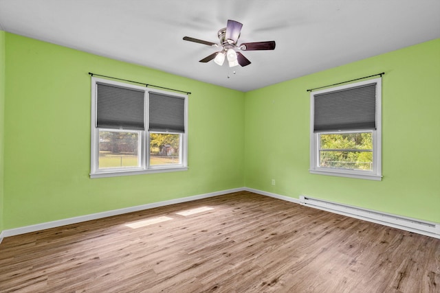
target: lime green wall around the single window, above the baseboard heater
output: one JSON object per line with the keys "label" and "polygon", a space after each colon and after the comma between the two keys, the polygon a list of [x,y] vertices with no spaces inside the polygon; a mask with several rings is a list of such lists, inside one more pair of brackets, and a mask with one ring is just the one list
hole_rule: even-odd
{"label": "lime green wall around the single window, above the baseboard heater", "polygon": [[[309,174],[307,89],[380,72],[382,181]],[[440,222],[439,93],[440,39],[245,93],[245,186]]]}

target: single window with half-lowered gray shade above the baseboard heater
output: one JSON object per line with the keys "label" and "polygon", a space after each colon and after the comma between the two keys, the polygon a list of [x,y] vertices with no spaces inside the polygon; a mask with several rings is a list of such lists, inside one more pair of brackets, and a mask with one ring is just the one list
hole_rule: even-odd
{"label": "single window with half-lowered gray shade above the baseboard heater", "polygon": [[311,92],[311,173],[382,180],[381,99],[381,78]]}

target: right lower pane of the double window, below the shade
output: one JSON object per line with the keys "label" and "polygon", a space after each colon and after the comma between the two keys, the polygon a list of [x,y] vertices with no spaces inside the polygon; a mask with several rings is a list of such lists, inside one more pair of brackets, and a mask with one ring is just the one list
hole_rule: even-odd
{"label": "right lower pane of the double window, below the shade", "polygon": [[180,136],[178,133],[151,133],[150,165],[180,164]]}

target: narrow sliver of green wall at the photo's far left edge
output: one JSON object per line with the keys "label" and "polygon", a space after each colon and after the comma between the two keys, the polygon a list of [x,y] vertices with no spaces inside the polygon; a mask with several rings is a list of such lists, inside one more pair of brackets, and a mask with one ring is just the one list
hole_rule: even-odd
{"label": "narrow sliver of green wall at the photo's far left edge", "polygon": [[0,30],[0,232],[3,231],[3,133],[5,121],[5,32]]}

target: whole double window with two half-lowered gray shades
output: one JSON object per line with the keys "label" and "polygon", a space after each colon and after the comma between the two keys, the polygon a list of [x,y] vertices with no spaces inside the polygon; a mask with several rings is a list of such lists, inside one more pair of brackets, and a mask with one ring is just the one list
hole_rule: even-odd
{"label": "whole double window with two half-lowered gray shades", "polygon": [[188,169],[188,96],[91,79],[91,178]]}

